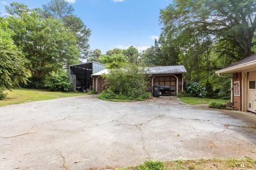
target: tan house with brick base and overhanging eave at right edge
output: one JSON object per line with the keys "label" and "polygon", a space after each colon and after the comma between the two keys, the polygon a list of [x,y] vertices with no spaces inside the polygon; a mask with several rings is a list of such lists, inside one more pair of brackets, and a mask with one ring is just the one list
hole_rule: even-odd
{"label": "tan house with brick base and overhanging eave at right edge", "polygon": [[256,113],[256,55],[216,71],[220,77],[231,74],[231,103],[239,111]]}

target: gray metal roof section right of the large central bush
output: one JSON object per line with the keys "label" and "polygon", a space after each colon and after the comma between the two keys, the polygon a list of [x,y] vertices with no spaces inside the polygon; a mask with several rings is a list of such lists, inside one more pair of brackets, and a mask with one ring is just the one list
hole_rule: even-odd
{"label": "gray metal roof section right of the large central bush", "polygon": [[146,70],[149,74],[187,73],[183,65],[147,67]]}

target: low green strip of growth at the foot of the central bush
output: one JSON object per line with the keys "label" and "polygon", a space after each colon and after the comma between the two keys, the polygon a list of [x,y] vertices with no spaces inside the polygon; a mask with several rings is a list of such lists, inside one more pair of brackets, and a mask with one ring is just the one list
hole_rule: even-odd
{"label": "low green strip of growth at the foot of the central bush", "polygon": [[101,100],[114,101],[114,102],[134,102],[134,101],[144,101],[146,99],[149,99],[152,97],[152,93],[146,92],[145,94],[138,96],[135,99],[129,99],[129,97],[127,97],[125,95],[113,95],[113,96],[111,96],[111,98],[106,98],[106,97],[108,97],[108,96],[106,96],[106,94],[104,92],[102,92],[98,98]]}

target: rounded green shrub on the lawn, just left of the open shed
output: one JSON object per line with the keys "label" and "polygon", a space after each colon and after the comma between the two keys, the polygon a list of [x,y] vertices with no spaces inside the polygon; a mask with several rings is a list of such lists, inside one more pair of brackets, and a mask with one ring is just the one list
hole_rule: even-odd
{"label": "rounded green shrub on the lawn, just left of the open shed", "polygon": [[53,91],[68,91],[71,88],[68,74],[64,70],[51,72],[45,79],[45,87]]}

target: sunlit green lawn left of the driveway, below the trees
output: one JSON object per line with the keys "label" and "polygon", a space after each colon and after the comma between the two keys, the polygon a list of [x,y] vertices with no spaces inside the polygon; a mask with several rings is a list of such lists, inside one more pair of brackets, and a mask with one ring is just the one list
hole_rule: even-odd
{"label": "sunlit green lawn left of the driveway, below the trees", "polygon": [[13,89],[7,91],[7,98],[0,100],[0,106],[26,103],[30,101],[49,100],[63,97],[83,96],[87,95],[82,92],[57,92],[49,90],[37,90],[37,89]]}

